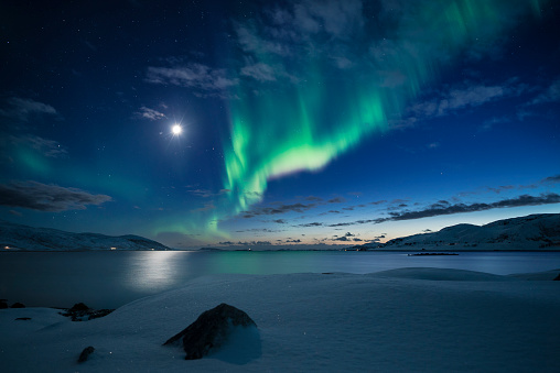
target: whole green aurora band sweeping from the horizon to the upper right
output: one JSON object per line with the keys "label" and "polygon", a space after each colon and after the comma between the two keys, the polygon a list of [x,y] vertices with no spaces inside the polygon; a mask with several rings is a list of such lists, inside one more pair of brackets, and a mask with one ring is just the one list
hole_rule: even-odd
{"label": "whole green aurora band sweeping from the horizon to the upper right", "polygon": [[[219,221],[261,201],[270,179],[319,171],[368,136],[387,131],[388,120],[398,120],[441,72],[460,58],[475,58],[473,53],[484,55],[521,17],[529,12],[538,17],[543,2],[410,1],[397,18],[364,21],[347,37],[325,31],[303,35],[303,42],[289,45],[295,53],[283,55],[266,43],[282,43],[270,41],[269,30],[284,25],[258,28],[257,21],[245,22],[241,26],[262,47],[238,51],[238,58],[231,59],[272,66],[279,74],[272,85],[236,77],[239,84],[229,100],[230,136],[224,139],[223,189],[228,193],[212,211],[194,213],[173,228],[192,232],[196,227],[208,239],[227,237]],[[327,48],[347,51],[352,66],[334,66]]]}

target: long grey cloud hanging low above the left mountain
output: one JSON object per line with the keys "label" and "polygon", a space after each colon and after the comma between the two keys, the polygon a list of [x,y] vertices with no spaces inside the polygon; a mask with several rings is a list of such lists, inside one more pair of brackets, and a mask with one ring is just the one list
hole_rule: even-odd
{"label": "long grey cloud hanging low above the left mountain", "polygon": [[46,185],[37,182],[11,182],[0,184],[0,205],[37,211],[85,210],[110,201],[106,195],[93,195],[77,188]]}

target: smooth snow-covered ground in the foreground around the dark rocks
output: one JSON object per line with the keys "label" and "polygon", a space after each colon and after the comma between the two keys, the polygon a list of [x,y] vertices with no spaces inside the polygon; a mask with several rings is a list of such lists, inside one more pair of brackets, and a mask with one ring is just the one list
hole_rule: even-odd
{"label": "smooth snow-covered ground in the foreground around the dark rocks", "polygon": [[[50,308],[3,309],[0,370],[560,372],[559,272],[216,275],[86,322]],[[195,361],[162,345],[220,303],[245,310],[257,337],[234,334]],[[95,352],[78,364],[88,345]]]}

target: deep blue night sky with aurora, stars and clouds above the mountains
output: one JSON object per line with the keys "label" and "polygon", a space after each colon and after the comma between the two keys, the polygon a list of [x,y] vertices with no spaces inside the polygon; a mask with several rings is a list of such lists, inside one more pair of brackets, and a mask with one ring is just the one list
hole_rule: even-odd
{"label": "deep blue night sky with aurora, stars and clouds above the mountains", "polygon": [[0,219],[279,249],[560,212],[559,20],[545,0],[3,1]]}

